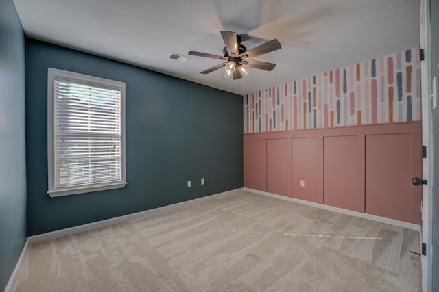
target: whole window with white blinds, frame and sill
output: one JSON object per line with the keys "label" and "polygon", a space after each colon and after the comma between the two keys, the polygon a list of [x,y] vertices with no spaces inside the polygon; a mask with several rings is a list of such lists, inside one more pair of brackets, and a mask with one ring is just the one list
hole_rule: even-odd
{"label": "whole window with white blinds, frame and sill", "polygon": [[48,68],[47,194],[124,187],[124,132],[125,83]]}

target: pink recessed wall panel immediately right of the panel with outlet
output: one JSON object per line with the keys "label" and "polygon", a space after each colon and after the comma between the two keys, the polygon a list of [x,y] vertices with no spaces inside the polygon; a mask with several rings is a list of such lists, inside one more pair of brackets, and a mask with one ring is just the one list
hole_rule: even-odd
{"label": "pink recessed wall panel immediately right of the panel with outlet", "polygon": [[364,168],[357,135],[324,137],[324,204],[364,212]]}

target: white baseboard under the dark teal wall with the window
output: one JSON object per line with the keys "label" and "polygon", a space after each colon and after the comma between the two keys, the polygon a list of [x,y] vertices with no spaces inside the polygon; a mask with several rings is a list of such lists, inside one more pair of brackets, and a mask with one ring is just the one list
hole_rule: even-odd
{"label": "white baseboard under the dark teal wall with the window", "polygon": [[128,214],[128,215],[114,217],[114,218],[110,218],[110,219],[106,219],[106,220],[101,220],[101,221],[97,221],[97,222],[92,222],[92,223],[88,223],[88,224],[84,224],[84,225],[73,226],[73,227],[70,227],[70,228],[55,230],[55,231],[51,231],[49,233],[42,233],[42,234],[39,234],[39,235],[32,235],[32,236],[29,236],[27,238],[27,241],[29,241],[29,243],[36,243],[36,242],[40,242],[40,241],[56,239],[58,237],[63,237],[63,236],[66,236],[66,235],[73,235],[75,233],[82,233],[82,232],[88,231],[88,230],[99,229],[99,228],[110,226],[110,225],[113,225],[113,224],[121,224],[123,222],[128,222],[130,220],[134,220],[134,219],[137,219],[139,217],[143,217],[145,215],[151,215],[152,213],[155,213],[157,211],[163,211],[163,209],[170,209],[170,208],[178,207],[178,206],[180,206],[182,204],[187,204],[189,202],[195,202],[195,201],[198,201],[198,200],[204,200],[206,198],[212,198],[214,196],[224,196],[226,194],[233,193],[234,191],[242,191],[243,189],[244,188],[232,189],[230,191],[224,191],[224,192],[219,193],[219,194],[213,194],[213,195],[210,195],[210,196],[204,196],[204,197],[201,197],[201,198],[196,198],[196,199],[185,201],[185,202],[178,202],[176,204],[170,204],[170,205],[163,206],[163,207],[158,207],[158,208],[155,208],[155,209],[150,209],[150,210],[146,210],[146,211],[141,211],[141,212],[137,212],[137,213],[132,213],[132,214]]}

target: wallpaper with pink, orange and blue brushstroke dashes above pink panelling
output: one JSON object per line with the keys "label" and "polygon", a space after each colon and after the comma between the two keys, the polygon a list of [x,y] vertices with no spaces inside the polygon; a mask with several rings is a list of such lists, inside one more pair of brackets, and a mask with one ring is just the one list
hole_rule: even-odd
{"label": "wallpaper with pink, orange and blue brushstroke dashes above pink panelling", "polygon": [[244,133],[420,120],[419,49],[244,95]]}

